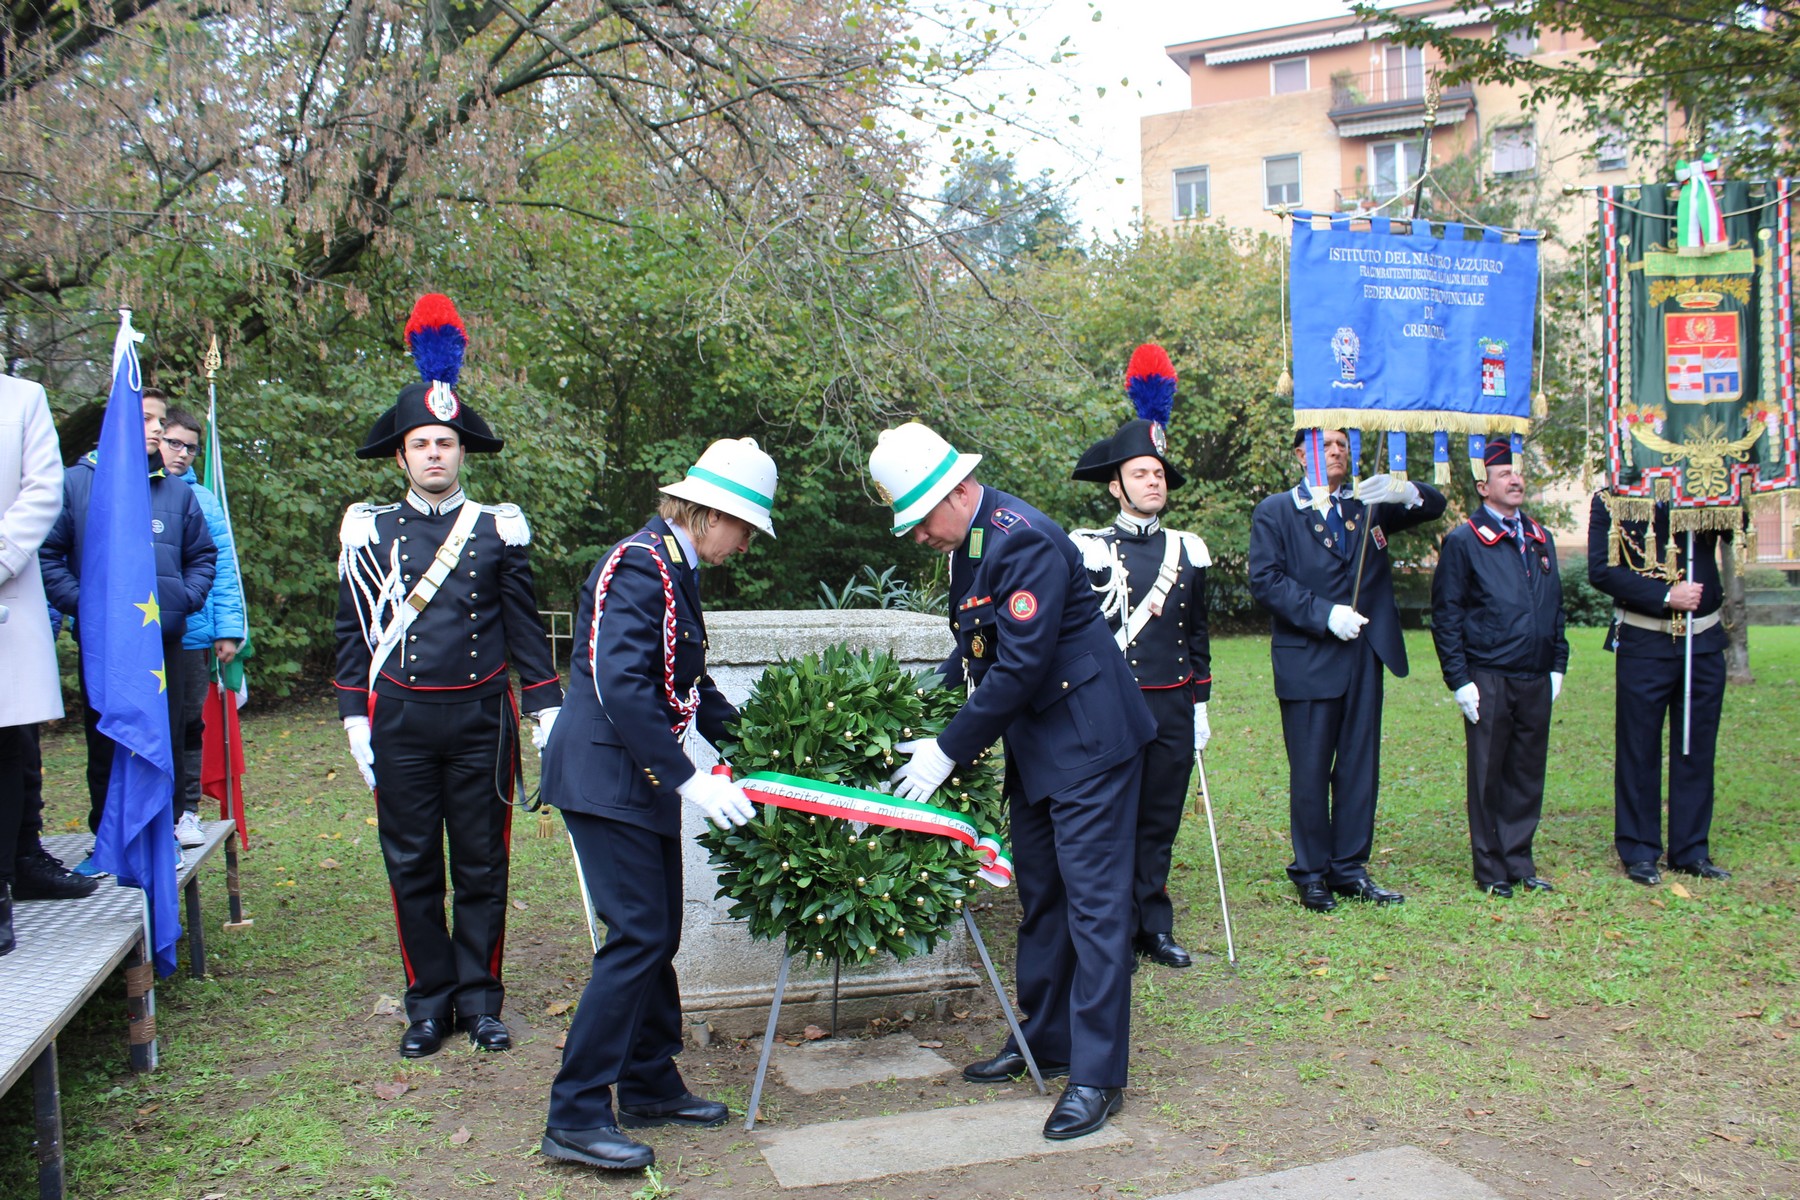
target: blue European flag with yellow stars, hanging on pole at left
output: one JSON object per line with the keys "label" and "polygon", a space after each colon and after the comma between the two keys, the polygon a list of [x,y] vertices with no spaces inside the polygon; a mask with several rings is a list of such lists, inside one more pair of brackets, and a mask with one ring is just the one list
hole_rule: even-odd
{"label": "blue European flag with yellow stars, hanging on pole at left", "polygon": [[117,743],[94,865],[144,889],[157,972],[175,970],[182,934],[175,885],[175,754],[151,542],[144,380],[131,315],[121,311],[113,389],[101,423],[81,542],[81,662],[99,730]]}

